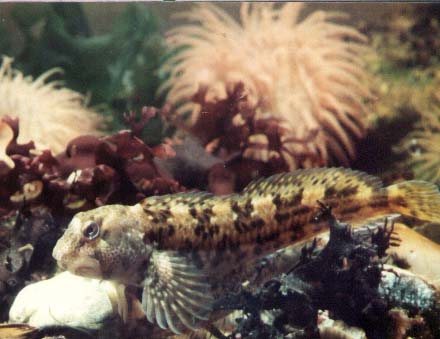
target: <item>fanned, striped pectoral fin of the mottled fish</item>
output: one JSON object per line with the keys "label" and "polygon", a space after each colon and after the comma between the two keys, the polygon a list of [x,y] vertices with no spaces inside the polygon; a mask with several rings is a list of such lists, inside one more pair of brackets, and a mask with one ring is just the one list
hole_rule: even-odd
{"label": "fanned, striped pectoral fin of the mottled fish", "polygon": [[181,334],[208,320],[214,298],[206,275],[186,256],[154,251],[144,281],[142,307],[147,319]]}

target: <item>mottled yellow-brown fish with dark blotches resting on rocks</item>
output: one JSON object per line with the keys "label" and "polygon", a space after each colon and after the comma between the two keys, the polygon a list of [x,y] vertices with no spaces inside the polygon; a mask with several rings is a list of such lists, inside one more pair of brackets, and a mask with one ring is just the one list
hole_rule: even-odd
{"label": "mottled yellow-brown fish with dark blotches resting on rocks", "polygon": [[433,184],[384,188],[358,171],[307,169],[259,179],[239,194],[178,193],[78,213],[53,256],[75,274],[143,287],[149,321],[181,333],[208,320],[246,265],[322,231],[313,222],[318,200],[344,222],[390,213],[440,221]]}

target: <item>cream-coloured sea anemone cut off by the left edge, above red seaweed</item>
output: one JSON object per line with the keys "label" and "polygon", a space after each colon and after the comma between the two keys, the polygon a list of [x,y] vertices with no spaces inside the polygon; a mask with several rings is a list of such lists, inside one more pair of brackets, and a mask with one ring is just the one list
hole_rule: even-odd
{"label": "cream-coloured sea anemone cut off by the left edge, above red seaweed", "polygon": [[[84,97],[59,81],[48,82],[58,69],[33,80],[12,68],[4,57],[0,67],[0,118],[20,119],[19,142],[34,141],[39,149],[63,151],[69,140],[83,134],[99,134],[99,115],[85,105]],[[10,140],[9,127],[0,120],[0,145]],[[5,140],[7,139],[7,140]],[[3,149],[0,149],[3,153]],[[4,155],[0,159],[5,159]]]}

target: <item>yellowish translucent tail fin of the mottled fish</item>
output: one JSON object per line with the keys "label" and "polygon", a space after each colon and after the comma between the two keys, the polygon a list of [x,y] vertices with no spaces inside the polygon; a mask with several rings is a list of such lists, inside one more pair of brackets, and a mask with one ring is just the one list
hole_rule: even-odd
{"label": "yellowish translucent tail fin of the mottled fish", "polygon": [[410,180],[386,190],[393,211],[423,221],[440,222],[440,192],[436,185]]}

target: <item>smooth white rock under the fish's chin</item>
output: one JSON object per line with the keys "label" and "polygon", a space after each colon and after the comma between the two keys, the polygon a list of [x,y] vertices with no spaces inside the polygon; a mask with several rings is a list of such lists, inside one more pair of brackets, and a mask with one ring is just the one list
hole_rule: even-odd
{"label": "smooth white rock under the fish's chin", "polygon": [[118,316],[117,286],[63,272],[26,286],[9,311],[9,321],[35,327],[100,329]]}

